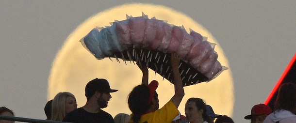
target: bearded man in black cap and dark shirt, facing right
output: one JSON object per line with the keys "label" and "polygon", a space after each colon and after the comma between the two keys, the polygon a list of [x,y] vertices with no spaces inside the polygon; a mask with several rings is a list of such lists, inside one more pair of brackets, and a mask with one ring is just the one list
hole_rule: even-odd
{"label": "bearded man in black cap and dark shirt, facing right", "polygon": [[66,115],[64,122],[72,123],[114,123],[113,117],[101,108],[108,106],[112,98],[110,92],[117,92],[110,88],[106,79],[95,78],[85,86],[86,104]]}

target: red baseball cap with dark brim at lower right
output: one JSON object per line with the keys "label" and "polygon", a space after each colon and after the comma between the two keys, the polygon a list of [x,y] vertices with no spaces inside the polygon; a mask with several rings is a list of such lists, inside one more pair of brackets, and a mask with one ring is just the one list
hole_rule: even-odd
{"label": "red baseball cap with dark brim at lower right", "polygon": [[245,117],[245,119],[249,120],[249,119],[252,119],[253,117],[257,116],[257,115],[263,115],[263,114],[266,114],[266,115],[269,115],[271,114],[271,108],[265,104],[258,104],[258,105],[255,105],[252,109],[251,109],[251,114],[250,115],[247,115]]}

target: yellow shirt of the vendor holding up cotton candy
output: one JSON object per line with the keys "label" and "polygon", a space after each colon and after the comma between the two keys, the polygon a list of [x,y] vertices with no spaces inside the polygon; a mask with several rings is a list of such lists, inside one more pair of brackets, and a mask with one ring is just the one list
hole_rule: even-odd
{"label": "yellow shirt of the vendor holding up cotton candy", "polygon": [[[172,101],[167,102],[163,108],[143,114],[139,123],[172,123],[173,119],[179,115],[178,109]],[[130,123],[133,123],[132,118]]]}

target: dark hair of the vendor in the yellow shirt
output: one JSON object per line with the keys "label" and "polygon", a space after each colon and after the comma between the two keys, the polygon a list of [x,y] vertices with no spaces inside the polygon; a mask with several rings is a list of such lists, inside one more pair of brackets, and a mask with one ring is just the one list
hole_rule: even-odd
{"label": "dark hair of the vendor in the yellow shirt", "polygon": [[[148,104],[149,97],[150,91],[146,85],[138,85],[132,89],[132,92],[129,94],[128,104],[132,111],[133,123],[138,123],[141,115],[146,113],[151,107],[152,103]],[[154,94],[153,98],[157,98],[157,94]]]}

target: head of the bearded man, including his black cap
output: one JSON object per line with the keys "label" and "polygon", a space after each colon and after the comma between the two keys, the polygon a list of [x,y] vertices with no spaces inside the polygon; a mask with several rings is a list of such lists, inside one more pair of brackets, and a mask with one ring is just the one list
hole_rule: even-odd
{"label": "head of the bearded man, including his black cap", "polygon": [[99,108],[106,108],[108,101],[112,98],[110,92],[117,92],[110,88],[109,82],[103,78],[95,78],[85,86],[85,96],[87,101],[96,100]]}

